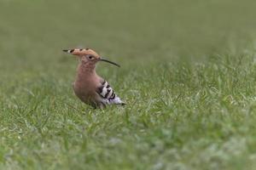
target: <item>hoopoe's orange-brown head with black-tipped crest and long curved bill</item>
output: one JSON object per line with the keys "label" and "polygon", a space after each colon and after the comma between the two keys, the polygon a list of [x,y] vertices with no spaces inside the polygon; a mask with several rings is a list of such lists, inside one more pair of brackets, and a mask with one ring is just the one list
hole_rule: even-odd
{"label": "hoopoe's orange-brown head with black-tipped crest and long curved bill", "polygon": [[99,54],[90,48],[76,48],[76,49],[63,49],[68,54],[73,54],[79,57],[80,61],[84,65],[96,65],[98,61],[105,61],[112,65],[120,66],[113,61],[103,59]]}

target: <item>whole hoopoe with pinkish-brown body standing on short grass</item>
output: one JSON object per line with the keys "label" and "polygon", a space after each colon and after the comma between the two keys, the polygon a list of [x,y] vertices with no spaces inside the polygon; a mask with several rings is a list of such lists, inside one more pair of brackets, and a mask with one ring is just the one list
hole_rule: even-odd
{"label": "whole hoopoe with pinkish-brown body standing on short grass", "polygon": [[106,105],[125,105],[108,82],[96,74],[98,61],[105,61],[116,66],[119,66],[118,64],[103,59],[90,48],[63,49],[63,51],[79,58],[77,76],[73,82],[73,91],[79,99],[94,108],[104,108]]}

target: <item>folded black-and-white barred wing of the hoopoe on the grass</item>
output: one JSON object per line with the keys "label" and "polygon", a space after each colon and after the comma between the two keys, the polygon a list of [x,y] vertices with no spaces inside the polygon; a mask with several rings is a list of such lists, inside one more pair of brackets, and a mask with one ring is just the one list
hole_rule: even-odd
{"label": "folded black-and-white barred wing of the hoopoe on the grass", "polygon": [[113,88],[110,87],[107,81],[102,81],[101,86],[97,88],[97,94],[101,97],[101,102],[104,105],[110,105],[110,104],[119,104],[119,105],[125,105],[125,102],[123,102],[119,97],[114,93]]}

